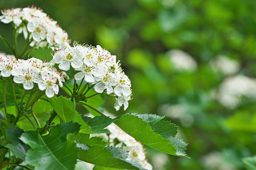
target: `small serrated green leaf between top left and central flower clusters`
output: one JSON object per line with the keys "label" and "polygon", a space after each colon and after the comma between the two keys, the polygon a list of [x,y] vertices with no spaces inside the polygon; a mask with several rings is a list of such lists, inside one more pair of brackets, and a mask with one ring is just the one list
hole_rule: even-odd
{"label": "small serrated green leaf between top left and central flower clusters", "polygon": [[53,56],[51,55],[51,53],[53,54],[53,49],[51,49],[50,47],[39,47],[36,48],[34,50],[31,50],[28,53],[28,57],[34,57],[34,58],[38,58],[42,61],[44,60],[48,60],[49,62],[53,59]]}

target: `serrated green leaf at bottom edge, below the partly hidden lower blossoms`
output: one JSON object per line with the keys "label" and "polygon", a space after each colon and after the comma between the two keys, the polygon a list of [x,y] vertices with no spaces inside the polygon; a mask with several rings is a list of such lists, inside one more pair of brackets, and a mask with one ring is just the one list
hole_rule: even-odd
{"label": "serrated green leaf at bottom edge, below the partly hidden lower blossoms", "polygon": [[122,168],[131,170],[144,170],[138,163],[126,160],[127,151],[114,146],[101,148],[92,146],[88,150],[81,149],[78,152],[78,159],[98,166],[110,168]]}

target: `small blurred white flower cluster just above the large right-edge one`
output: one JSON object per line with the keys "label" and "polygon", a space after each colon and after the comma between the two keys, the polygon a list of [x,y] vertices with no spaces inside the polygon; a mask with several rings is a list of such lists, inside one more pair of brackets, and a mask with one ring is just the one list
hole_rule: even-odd
{"label": "small blurred white flower cluster just above the large right-edge one", "polygon": [[224,75],[232,75],[239,71],[240,64],[236,60],[232,60],[224,55],[217,56],[210,62],[213,69],[220,71]]}

